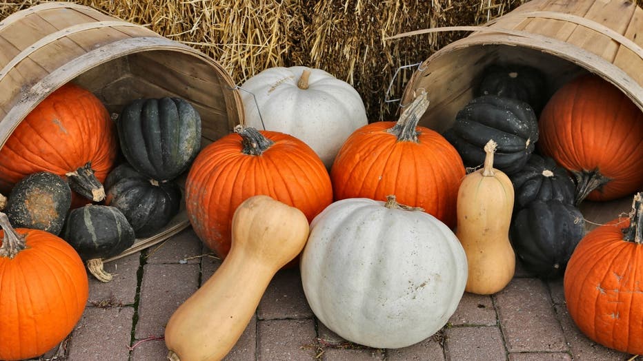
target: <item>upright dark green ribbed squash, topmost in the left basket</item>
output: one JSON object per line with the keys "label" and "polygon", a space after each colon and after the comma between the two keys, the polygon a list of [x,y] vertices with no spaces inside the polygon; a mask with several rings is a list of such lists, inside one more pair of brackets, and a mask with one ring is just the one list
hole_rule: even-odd
{"label": "upright dark green ribbed squash, topmost in the left basket", "polygon": [[201,117],[179,98],[133,101],[121,112],[117,128],[128,163],[159,181],[177,178],[201,147]]}

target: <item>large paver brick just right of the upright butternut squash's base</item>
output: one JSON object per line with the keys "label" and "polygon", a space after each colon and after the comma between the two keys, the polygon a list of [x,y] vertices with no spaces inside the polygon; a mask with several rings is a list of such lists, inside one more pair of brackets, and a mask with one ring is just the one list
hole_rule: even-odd
{"label": "large paver brick just right of the upright butternut squash's base", "polygon": [[514,278],[494,297],[509,352],[568,351],[542,280]]}

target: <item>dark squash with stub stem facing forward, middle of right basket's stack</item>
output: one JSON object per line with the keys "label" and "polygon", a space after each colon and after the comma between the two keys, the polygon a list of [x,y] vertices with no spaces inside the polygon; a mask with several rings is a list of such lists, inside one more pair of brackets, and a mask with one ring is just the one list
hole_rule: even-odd
{"label": "dark squash with stub stem facing forward, middle of right basket's stack", "polygon": [[531,154],[527,164],[512,174],[515,191],[515,208],[526,207],[534,200],[557,199],[573,204],[576,186],[567,170],[550,157]]}

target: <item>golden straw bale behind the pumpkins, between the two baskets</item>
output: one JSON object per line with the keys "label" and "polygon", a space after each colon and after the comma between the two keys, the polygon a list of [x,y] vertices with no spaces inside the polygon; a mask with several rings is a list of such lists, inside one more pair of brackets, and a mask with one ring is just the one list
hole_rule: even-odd
{"label": "golden straw bale behind the pumpkins, between the two baskets", "polygon": [[[414,64],[466,32],[384,41],[451,25],[478,25],[525,0],[75,0],[192,45],[241,84],[273,66],[307,65],[347,81],[370,121],[393,120]],[[43,1],[0,3],[0,19]],[[642,3],[643,0],[636,0]],[[395,76],[397,72],[397,76]],[[395,81],[392,79],[395,76]],[[390,92],[387,89],[390,85]]]}

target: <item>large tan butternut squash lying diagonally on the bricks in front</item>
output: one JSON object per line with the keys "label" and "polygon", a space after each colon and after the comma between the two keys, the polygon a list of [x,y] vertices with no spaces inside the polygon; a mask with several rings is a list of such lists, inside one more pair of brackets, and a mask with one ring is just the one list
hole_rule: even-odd
{"label": "large tan butternut squash lying diagonally on the bricks in front", "polygon": [[233,348],[275,273],[306,245],[308,220],[297,208],[253,196],[235,210],[230,253],[215,274],[170,317],[169,360],[214,361]]}

